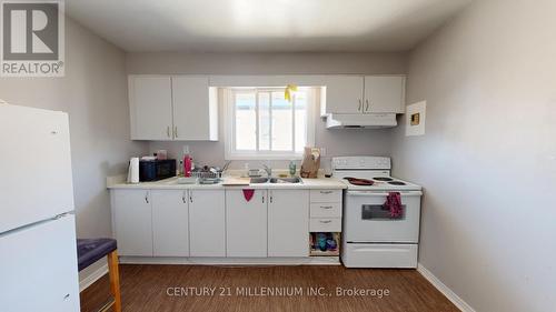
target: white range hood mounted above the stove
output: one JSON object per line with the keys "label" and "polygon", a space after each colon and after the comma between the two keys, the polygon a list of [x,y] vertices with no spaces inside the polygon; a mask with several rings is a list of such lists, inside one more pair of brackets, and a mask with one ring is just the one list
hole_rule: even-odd
{"label": "white range hood mounted above the stove", "polygon": [[327,129],[378,129],[398,125],[395,113],[330,113],[326,117]]}

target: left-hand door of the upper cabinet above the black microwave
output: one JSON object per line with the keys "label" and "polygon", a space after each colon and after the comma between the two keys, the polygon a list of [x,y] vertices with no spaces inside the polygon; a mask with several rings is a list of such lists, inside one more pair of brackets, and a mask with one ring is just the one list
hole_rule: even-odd
{"label": "left-hand door of the upper cabinet above the black microwave", "polygon": [[130,76],[132,140],[172,140],[171,80],[168,76]]}

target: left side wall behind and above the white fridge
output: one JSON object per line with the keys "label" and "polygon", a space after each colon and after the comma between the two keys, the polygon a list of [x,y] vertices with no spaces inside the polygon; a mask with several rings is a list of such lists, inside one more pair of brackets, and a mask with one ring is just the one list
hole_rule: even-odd
{"label": "left side wall behind and above the white fridge", "polygon": [[129,140],[126,54],[67,18],[66,66],[63,78],[0,78],[0,99],[69,113],[78,236],[111,236],[106,177],[147,151]]}

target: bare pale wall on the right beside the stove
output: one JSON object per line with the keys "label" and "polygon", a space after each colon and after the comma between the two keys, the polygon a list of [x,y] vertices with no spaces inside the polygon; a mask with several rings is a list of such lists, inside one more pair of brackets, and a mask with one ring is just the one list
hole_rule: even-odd
{"label": "bare pale wall on the right beside the stove", "polygon": [[410,57],[395,174],[425,188],[419,261],[476,311],[556,306],[556,2],[475,1]]}

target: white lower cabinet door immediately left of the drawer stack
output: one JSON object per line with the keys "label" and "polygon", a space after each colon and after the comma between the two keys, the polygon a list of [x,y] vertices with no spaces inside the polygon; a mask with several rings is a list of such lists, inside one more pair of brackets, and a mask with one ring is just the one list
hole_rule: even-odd
{"label": "white lower cabinet door immediately left of the drawer stack", "polygon": [[309,191],[268,193],[268,256],[308,256]]}

